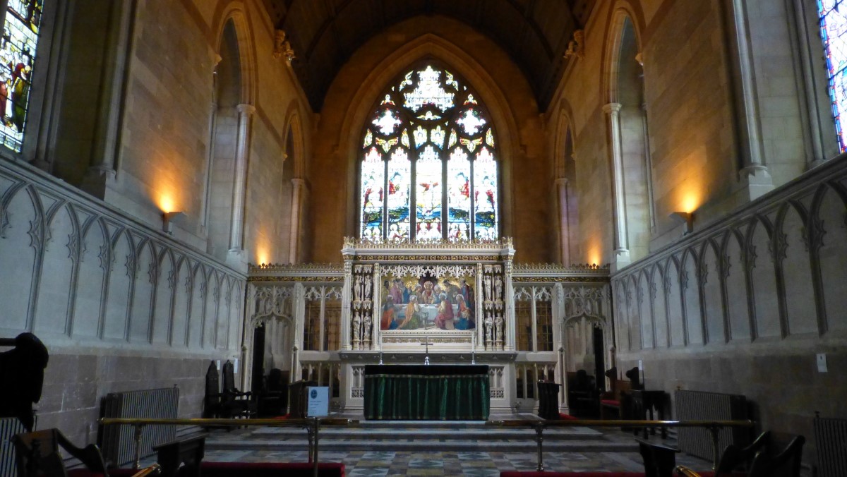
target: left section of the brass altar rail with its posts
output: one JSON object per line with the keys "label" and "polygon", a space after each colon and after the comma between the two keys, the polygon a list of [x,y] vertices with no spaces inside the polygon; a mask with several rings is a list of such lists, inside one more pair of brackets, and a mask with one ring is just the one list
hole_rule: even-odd
{"label": "left section of the brass altar rail with its posts", "polygon": [[133,469],[141,468],[141,430],[146,425],[197,425],[202,427],[227,426],[266,426],[266,427],[302,427],[307,431],[309,463],[313,464],[313,475],[318,475],[318,430],[322,425],[351,425],[358,424],[354,419],[338,418],[307,418],[307,419],[134,419],[134,418],[100,418],[101,425],[131,425],[135,428],[136,453],[132,463]]}

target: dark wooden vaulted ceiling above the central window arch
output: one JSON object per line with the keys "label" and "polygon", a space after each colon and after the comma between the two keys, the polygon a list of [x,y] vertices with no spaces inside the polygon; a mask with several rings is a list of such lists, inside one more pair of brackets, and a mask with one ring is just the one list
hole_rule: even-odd
{"label": "dark wooden vaulted ceiling above the central window arch", "polygon": [[567,43],[596,0],[263,0],[296,58],[291,62],[309,102],[320,111],[329,85],[357,48],[418,15],[445,15],[489,36],[518,64],[539,108],[561,79]]}

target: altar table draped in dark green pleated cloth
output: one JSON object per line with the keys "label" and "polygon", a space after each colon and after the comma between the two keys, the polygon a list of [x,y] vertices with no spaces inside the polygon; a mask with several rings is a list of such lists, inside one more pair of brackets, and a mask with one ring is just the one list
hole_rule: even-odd
{"label": "altar table draped in dark green pleated cloth", "polygon": [[487,365],[365,366],[365,419],[486,420]]}

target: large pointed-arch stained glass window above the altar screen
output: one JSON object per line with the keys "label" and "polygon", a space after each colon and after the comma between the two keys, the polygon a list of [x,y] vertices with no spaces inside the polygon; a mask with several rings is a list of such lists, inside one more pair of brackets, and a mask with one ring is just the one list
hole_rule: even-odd
{"label": "large pointed-arch stained glass window above the altar screen", "polygon": [[382,95],[361,143],[363,239],[498,238],[495,133],[478,101],[435,64],[408,71]]}

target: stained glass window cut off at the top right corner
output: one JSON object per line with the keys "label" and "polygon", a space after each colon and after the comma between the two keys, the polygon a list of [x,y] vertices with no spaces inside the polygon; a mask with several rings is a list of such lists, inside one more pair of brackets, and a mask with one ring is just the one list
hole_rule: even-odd
{"label": "stained glass window cut off at the top right corner", "polygon": [[826,52],[829,97],[833,102],[835,133],[839,150],[847,149],[842,119],[847,113],[847,4],[843,0],[817,0],[821,37]]}

